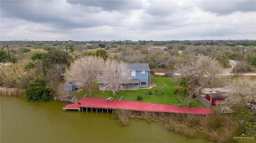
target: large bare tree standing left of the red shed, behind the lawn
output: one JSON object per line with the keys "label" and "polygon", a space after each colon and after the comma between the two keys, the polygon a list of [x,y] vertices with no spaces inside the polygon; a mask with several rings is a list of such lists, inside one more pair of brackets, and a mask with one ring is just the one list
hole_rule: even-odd
{"label": "large bare tree standing left of the red shed, behind the lawn", "polygon": [[224,72],[216,59],[204,55],[198,55],[198,58],[188,63],[175,65],[175,69],[181,77],[187,77],[189,88],[197,88],[198,94],[206,86],[216,86],[218,74]]}

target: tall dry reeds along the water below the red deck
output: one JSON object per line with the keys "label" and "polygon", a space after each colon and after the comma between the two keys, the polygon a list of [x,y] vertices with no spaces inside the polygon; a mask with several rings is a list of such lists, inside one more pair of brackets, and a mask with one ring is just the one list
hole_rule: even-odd
{"label": "tall dry reeds along the water below the red deck", "polygon": [[207,140],[232,143],[233,137],[242,134],[242,127],[225,115],[209,116],[192,114],[173,114],[144,111],[118,110],[115,114],[120,125],[128,125],[129,118],[144,118],[147,121],[158,121],[176,133],[187,137],[197,137],[201,133]]}

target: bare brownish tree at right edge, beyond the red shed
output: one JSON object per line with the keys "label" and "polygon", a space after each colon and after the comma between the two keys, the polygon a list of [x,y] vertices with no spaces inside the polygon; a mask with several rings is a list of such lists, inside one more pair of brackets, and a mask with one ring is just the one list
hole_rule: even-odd
{"label": "bare brownish tree at right edge, beyond the red shed", "polygon": [[242,105],[245,109],[251,108],[256,112],[256,80],[255,78],[243,76],[234,78],[229,84],[230,92],[226,94],[226,102],[219,101],[216,104],[222,112],[230,112],[230,107]]}

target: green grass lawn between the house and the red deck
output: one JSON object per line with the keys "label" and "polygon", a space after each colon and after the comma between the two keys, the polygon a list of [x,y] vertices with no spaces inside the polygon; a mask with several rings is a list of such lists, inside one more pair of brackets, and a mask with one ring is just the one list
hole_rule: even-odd
{"label": "green grass lawn between the house and the red deck", "polygon": [[[120,96],[124,96],[124,99],[122,100],[128,100],[128,101],[141,101],[141,102],[151,102],[151,103],[159,103],[159,104],[170,104],[170,105],[179,105],[175,99],[177,99],[177,95],[173,93],[174,86],[177,85],[177,83],[170,77],[152,77],[152,82],[156,84],[157,87],[153,87],[151,89],[143,89],[140,88],[139,90],[121,90],[116,92],[116,96],[112,95],[112,91],[99,91],[97,89],[92,89],[92,95],[89,96],[89,91],[87,88],[82,88],[83,90],[81,92],[72,91],[72,93],[80,98],[83,98],[84,95],[86,97],[92,97],[92,98],[108,98],[112,97],[116,100],[120,98]],[[155,92],[156,89],[162,88],[164,85],[167,85],[169,87],[165,87],[162,91],[158,91],[159,94],[151,94],[146,95],[144,94],[144,91],[149,92],[152,91]],[[97,84],[95,85],[97,87]],[[164,94],[160,94],[164,93]],[[137,96],[142,96],[143,100],[137,100]],[[202,104],[200,101],[198,101],[196,98],[193,98],[194,103],[192,104],[192,107],[203,107],[204,104]],[[183,106],[186,106],[186,103],[183,101]]]}

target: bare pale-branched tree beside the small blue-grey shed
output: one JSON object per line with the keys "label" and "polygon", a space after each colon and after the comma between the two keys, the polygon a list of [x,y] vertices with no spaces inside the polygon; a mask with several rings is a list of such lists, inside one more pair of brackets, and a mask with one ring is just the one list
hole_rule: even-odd
{"label": "bare pale-branched tree beside the small blue-grey shed", "polygon": [[102,73],[104,60],[99,57],[86,56],[74,61],[65,73],[65,80],[76,86],[86,86],[92,95],[92,85]]}

